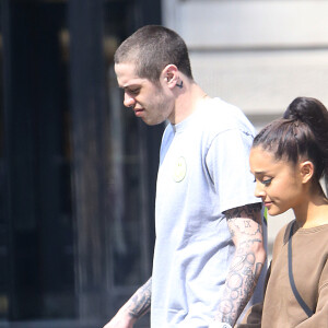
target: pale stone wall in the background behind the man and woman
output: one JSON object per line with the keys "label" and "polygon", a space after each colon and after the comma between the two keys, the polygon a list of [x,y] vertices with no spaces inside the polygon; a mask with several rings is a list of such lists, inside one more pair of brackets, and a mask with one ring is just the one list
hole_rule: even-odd
{"label": "pale stone wall in the background behind the man and woman", "polygon": [[[239,106],[257,129],[300,95],[328,106],[328,0],[162,3],[164,24],[189,47],[197,82]],[[291,211],[269,218],[270,249],[292,218]]]}

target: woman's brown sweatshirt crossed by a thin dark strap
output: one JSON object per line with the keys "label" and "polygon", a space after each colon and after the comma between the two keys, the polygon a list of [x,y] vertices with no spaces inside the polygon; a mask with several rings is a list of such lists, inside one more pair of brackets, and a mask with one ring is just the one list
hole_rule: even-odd
{"label": "woman's brown sweatshirt crossed by a thin dark strap", "polygon": [[328,328],[328,224],[295,229],[292,236],[293,276],[296,289],[314,312],[308,318],[295,298],[288,267],[291,223],[278,234],[268,270],[263,304],[254,305],[239,328]]}

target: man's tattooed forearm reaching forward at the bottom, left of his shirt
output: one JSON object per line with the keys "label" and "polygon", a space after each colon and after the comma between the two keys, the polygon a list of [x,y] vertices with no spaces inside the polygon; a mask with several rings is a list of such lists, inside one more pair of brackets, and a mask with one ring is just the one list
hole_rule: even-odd
{"label": "man's tattooed forearm reaching forward at the bottom, left of his shirt", "polygon": [[134,323],[149,312],[151,294],[152,279],[150,278],[104,328],[132,328]]}

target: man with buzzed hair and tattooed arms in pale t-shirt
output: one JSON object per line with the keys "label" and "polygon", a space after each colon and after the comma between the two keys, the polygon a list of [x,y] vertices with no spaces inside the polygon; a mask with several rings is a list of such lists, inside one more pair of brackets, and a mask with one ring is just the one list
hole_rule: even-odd
{"label": "man with buzzed hair and tattooed arms in pale t-shirt", "polygon": [[261,204],[242,112],[210,98],[192,79],[184,40],[144,26],[115,54],[124,104],[148,125],[168,120],[156,186],[152,278],[105,326],[133,327],[151,308],[153,328],[232,327],[266,260]]}

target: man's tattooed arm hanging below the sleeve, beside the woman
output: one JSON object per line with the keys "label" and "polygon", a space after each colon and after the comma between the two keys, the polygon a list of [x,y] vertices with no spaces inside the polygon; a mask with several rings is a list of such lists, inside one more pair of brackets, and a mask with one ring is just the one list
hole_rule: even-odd
{"label": "man's tattooed arm hanging below the sleeve, beside the woman", "polygon": [[224,212],[236,251],[215,320],[231,326],[249,301],[266,260],[260,209],[254,203]]}

